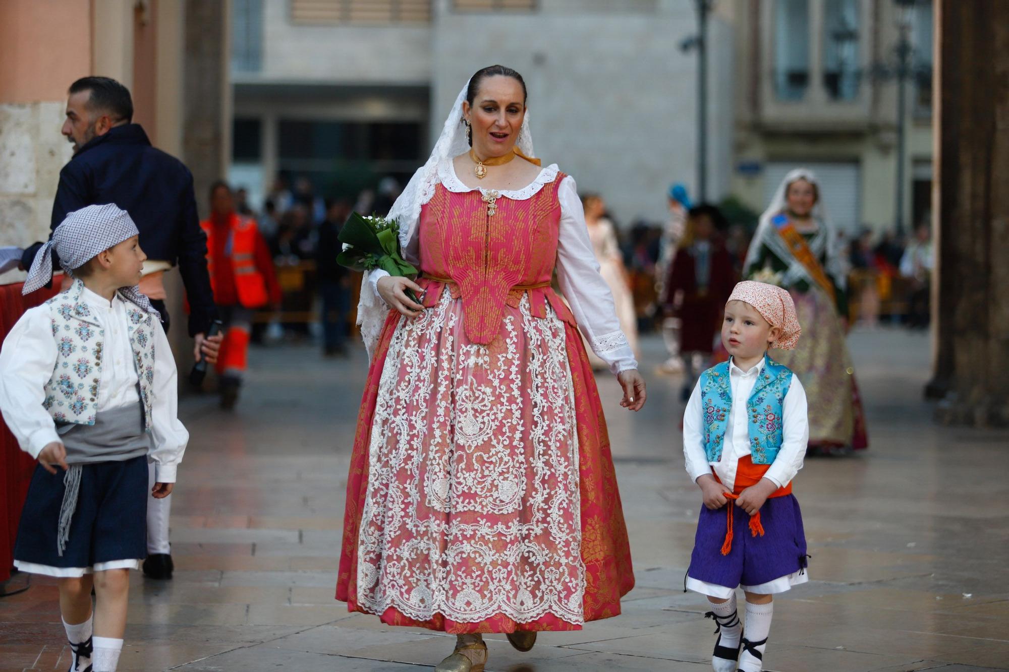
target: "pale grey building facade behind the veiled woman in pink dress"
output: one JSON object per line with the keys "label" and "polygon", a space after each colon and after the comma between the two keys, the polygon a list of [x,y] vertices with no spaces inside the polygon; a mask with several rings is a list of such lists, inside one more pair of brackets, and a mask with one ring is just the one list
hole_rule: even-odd
{"label": "pale grey building facade behind the veiled woman in pink dress", "polygon": [[[258,208],[273,177],[350,196],[401,184],[476,70],[527,81],[537,154],[629,224],[696,184],[693,0],[234,0],[230,176]],[[731,45],[715,16],[712,37]],[[728,191],[733,49],[711,51],[709,193]]]}

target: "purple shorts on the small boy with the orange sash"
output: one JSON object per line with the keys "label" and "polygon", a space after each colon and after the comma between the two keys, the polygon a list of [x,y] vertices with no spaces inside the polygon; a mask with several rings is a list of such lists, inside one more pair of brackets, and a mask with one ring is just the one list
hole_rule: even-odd
{"label": "purple shorts on the small boy with the orange sash", "polygon": [[795,495],[770,497],[761,507],[764,535],[750,532],[750,516],[730,501],[733,508],[733,548],[721,554],[725,541],[725,508],[708,511],[701,507],[694,550],[687,576],[705,583],[728,588],[761,585],[788,576],[806,566],[806,536],[802,514]]}

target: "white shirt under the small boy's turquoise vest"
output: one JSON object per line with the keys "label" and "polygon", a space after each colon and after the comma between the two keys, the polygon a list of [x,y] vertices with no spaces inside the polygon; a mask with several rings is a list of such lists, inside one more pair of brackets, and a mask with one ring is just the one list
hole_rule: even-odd
{"label": "white shirt under the small boy's turquoise vest", "polygon": [[[717,462],[708,462],[707,453],[704,451],[704,411],[701,408],[700,381],[694,385],[683,416],[683,455],[686,457],[687,473],[694,482],[713,470],[722,485],[730,490],[735,487],[736,469],[740,458],[750,454],[750,418],[747,414],[747,402],[763,370],[764,359],[749,371],[741,369],[733,359],[728,361],[733,400],[725,423],[721,458]],[[809,442],[806,391],[794,373],[782,404],[782,416],[781,449],[764,474],[765,478],[774,481],[778,487],[784,487],[791,482],[802,468],[806,444]]]}

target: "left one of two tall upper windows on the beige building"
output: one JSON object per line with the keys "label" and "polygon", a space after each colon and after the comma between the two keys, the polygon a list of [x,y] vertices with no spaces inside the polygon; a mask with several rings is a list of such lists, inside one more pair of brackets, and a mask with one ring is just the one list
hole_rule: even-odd
{"label": "left one of two tall upper windows on the beige building", "polygon": [[777,0],[774,84],[781,100],[801,100],[809,86],[809,0]]}

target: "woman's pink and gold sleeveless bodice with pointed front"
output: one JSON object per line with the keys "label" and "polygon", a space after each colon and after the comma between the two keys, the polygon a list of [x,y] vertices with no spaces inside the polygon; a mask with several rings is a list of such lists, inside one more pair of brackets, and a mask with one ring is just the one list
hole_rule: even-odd
{"label": "woman's pink and gold sleeveless bodice with pointed front", "polygon": [[[574,318],[550,288],[557,262],[561,205],[556,177],[528,199],[496,192],[451,192],[443,184],[421,210],[421,270],[428,278],[449,279],[453,297],[462,298],[463,329],[473,343],[486,345],[500,332],[504,307],[528,295],[534,317],[546,317],[549,304],[572,325]],[[428,289],[425,306],[437,303],[445,284]]]}

